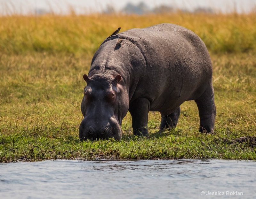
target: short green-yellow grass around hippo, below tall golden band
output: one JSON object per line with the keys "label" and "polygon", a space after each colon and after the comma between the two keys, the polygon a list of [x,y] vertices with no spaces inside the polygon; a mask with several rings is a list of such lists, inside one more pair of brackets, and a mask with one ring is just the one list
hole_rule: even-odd
{"label": "short green-yellow grass around hippo, below tall golden band", "polygon": [[[34,53],[3,55],[0,61],[0,162],[96,157],[256,159],[256,58],[253,53],[212,54],[217,108],[214,135],[198,132],[193,101],[181,106],[175,130],[154,134],[160,114],[149,113],[150,138],[132,135],[131,116],[120,142],[80,142],[80,101],[91,57]],[[7,66],[8,67],[7,67]]]}

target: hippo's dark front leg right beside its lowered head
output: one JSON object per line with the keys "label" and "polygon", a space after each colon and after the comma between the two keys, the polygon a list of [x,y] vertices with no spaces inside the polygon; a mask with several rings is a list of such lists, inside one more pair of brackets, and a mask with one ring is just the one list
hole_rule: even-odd
{"label": "hippo's dark front leg right beside its lowered head", "polygon": [[132,129],[134,135],[148,136],[149,101],[146,98],[134,100],[129,105],[132,116]]}

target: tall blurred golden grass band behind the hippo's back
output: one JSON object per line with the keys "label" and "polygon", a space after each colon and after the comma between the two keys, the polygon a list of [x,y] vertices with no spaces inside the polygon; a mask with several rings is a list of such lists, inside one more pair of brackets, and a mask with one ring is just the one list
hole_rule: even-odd
{"label": "tall blurred golden grass band behind the hippo's back", "polygon": [[0,17],[0,51],[93,54],[117,27],[121,31],[173,23],[195,32],[208,50],[247,52],[256,48],[256,14],[45,15]]}

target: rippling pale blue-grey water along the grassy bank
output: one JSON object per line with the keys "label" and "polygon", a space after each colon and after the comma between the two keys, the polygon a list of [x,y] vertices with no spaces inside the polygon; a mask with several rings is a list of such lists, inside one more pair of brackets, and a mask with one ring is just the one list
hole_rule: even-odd
{"label": "rippling pale blue-grey water along the grassy bank", "polygon": [[256,198],[255,174],[256,162],[234,160],[5,163],[0,198]]}

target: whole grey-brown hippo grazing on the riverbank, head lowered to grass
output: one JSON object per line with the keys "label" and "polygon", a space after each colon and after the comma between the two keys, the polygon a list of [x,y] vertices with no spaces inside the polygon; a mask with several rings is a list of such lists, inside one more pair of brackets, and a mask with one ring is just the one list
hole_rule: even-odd
{"label": "whole grey-brown hippo grazing on the riverbank, head lowered to grass", "polygon": [[212,63],[204,42],[187,28],[158,24],[107,38],[84,80],[81,140],[120,140],[128,111],[134,135],[148,136],[148,111],[161,113],[160,131],[175,128],[188,100],[197,104],[199,132],[213,133]]}

